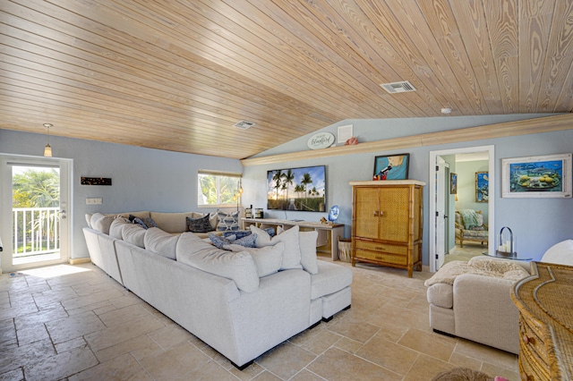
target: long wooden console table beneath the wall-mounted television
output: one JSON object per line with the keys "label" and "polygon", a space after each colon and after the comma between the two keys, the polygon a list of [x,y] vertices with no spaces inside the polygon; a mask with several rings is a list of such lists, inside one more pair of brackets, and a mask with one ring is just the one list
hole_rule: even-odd
{"label": "long wooden console table beneath the wall-mounted television", "polygon": [[316,247],[329,247],[329,254],[332,260],[338,260],[338,237],[344,237],[344,224],[322,224],[309,221],[281,220],[275,218],[241,218],[243,229],[248,229],[250,225],[264,229],[267,227],[280,226],[286,230],[298,226],[302,231],[316,230],[319,236],[316,240]]}

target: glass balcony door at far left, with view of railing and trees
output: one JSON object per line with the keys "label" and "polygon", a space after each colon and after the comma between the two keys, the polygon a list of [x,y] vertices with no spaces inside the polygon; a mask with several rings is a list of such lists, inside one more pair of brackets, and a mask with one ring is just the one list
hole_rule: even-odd
{"label": "glass balcony door at far left, with view of railing and trees", "polygon": [[70,257],[71,160],[0,155],[0,271]]}

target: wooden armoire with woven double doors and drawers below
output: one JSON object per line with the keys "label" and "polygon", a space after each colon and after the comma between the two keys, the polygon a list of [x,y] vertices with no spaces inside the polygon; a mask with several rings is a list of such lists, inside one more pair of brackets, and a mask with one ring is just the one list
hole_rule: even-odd
{"label": "wooden armoire with woven double doors and drawers below", "polygon": [[352,266],[422,270],[423,186],[416,180],[350,182]]}

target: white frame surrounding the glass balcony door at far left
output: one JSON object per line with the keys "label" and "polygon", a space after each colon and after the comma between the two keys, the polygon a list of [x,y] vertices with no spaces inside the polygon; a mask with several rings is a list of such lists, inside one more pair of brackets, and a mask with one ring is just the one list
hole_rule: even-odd
{"label": "white frame surrounding the glass balcony door at far left", "polygon": [[[34,157],[27,155],[13,155],[0,153],[0,202],[4,206],[10,206],[12,211],[12,178],[8,175],[10,171],[6,170],[6,163],[22,161],[24,163],[38,163],[38,165],[52,164],[60,168],[60,259],[53,261],[36,262],[33,266],[46,266],[56,263],[68,262],[73,248],[73,159],[61,157]],[[4,190],[7,184],[10,184],[10,192]],[[10,216],[8,216],[10,215]],[[4,251],[0,255],[0,274],[2,271],[16,271],[21,268],[28,267],[26,265],[13,266],[2,262],[5,258],[6,250],[12,251],[12,231],[9,226],[12,226],[12,213],[4,213],[4,209],[0,211],[0,235],[4,241]],[[64,238],[64,239],[62,239]],[[67,238],[67,239],[66,239]],[[12,254],[10,254],[12,255]]]}

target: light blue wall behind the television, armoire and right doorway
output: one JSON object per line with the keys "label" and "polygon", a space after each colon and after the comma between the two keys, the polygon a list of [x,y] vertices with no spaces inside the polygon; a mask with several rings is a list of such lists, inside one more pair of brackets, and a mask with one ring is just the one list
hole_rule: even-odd
{"label": "light blue wall behind the television, armoire and right doorway", "polygon": [[[545,115],[498,115],[485,117],[441,117],[426,119],[391,119],[344,121],[321,131],[330,131],[337,136],[338,125],[354,124],[355,135],[360,141],[373,141],[408,136],[416,133],[451,130],[491,123],[523,120]],[[387,132],[388,130],[388,132]],[[273,148],[260,156],[286,152],[298,152],[308,149],[306,140],[310,135],[293,140],[285,145]],[[429,183],[430,151],[450,148],[468,148],[494,145],[495,171],[497,182],[491,196],[495,198],[495,226],[511,227],[518,239],[518,252],[541,258],[543,252],[554,243],[573,238],[573,199],[501,199],[501,158],[528,157],[573,151],[573,130],[548,132],[492,140],[475,140],[456,144],[444,144],[422,148],[397,149],[367,154],[355,154],[340,157],[326,157],[309,160],[294,160],[274,165],[253,165],[244,167],[244,206],[266,207],[265,179],[267,171],[289,167],[326,165],[328,207],[338,205],[338,222],[346,224],[346,237],[350,235],[352,221],[352,189],[348,182],[370,180],[373,160],[378,155],[410,153],[409,178]],[[329,148],[325,148],[329,149]],[[428,265],[428,186],[424,187],[424,223],[423,223],[423,263]],[[265,210],[266,216],[276,218],[300,218],[318,221],[326,213],[284,212]]]}

